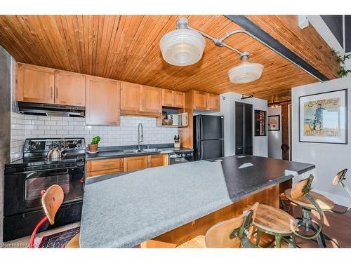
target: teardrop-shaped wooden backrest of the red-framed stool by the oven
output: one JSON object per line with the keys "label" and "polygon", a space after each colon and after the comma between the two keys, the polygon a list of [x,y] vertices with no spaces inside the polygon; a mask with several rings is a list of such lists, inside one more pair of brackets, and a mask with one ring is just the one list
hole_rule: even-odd
{"label": "teardrop-shaped wooden backrest of the red-framed stool by the oven", "polygon": [[41,196],[41,205],[43,205],[48,222],[54,224],[55,215],[58,212],[63,201],[64,193],[58,184],[53,184]]}

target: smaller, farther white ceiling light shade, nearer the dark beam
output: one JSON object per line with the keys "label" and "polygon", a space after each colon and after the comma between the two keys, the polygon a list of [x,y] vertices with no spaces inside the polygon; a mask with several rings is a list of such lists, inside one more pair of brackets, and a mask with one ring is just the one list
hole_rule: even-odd
{"label": "smaller, farther white ceiling light shade, nearer the dark beam", "polygon": [[228,76],[232,83],[248,83],[260,79],[263,68],[263,65],[251,63],[247,56],[244,56],[239,66],[233,67],[228,71]]}

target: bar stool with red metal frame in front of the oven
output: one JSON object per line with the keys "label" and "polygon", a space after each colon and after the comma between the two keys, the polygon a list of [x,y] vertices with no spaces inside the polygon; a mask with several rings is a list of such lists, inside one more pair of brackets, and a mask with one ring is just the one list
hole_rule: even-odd
{"label": "bar stool with red metal frame in front of the oven", "polygon": [[[58,208],[60,208],[62,204],[63,198],[63,190],[58,184],[53,184],[46,191],[41,191],[41,205],[44,208],[45,216],[38,222],[37,226],[34,228],[32,236],[30,237],[29,248],[34,248],[34,238],[42,224],[44,224],[46,221],[48,221],[50,224],[55,223],[55,215],[58,212]],[[76,236],[79,236],[79,234],[77,234]],[[76,238],[76,236],[74,236],[72,239]]]}

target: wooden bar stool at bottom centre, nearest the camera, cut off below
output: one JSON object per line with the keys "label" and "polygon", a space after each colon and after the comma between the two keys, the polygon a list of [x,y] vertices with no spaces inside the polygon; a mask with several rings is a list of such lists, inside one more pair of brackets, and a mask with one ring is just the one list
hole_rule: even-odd
{"label": "wooden bar stool at bottom centre, nearest the camera, cut off below", "polygon": [[255,203],[243,215],[213,225],[206,236],[196,236],[178,248],[257,248],[249,241],[257,208]]}

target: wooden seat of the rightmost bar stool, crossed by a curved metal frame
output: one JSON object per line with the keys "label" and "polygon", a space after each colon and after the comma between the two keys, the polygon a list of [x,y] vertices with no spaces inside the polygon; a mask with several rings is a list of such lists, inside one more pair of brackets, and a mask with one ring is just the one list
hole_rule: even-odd
{"label": "wooden seat of the rightmost bar stool, crossed by a curved metal frame", "polygon": [[[310,208],[315,210],[314,205],[308,200],[307,196],[300,196],[299,198],[293,198],[291,196],[291,189],[286,189],[285,190],[285,196],[288,198],[291,202],[296,203],[297,205],[303,206],[305,208]],[[322,194],[318,194],[315,191],[310,191],[310,196],[314,198],[314,200],[317,202],[317,204],[322,208],[323,211],[328,211],[334,208],[335,203],[331,201],[329,198],[326,198],[326,196]]]}

